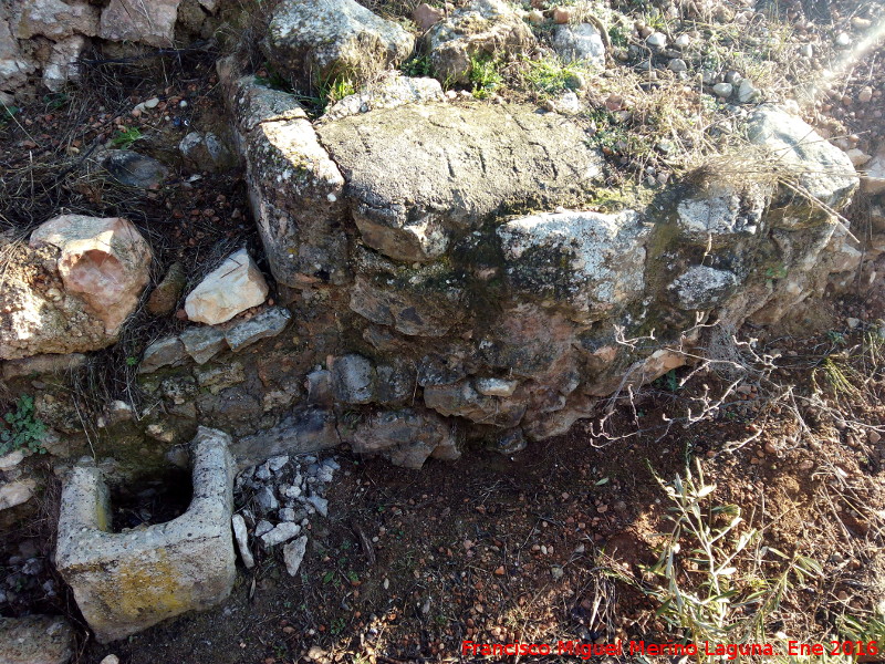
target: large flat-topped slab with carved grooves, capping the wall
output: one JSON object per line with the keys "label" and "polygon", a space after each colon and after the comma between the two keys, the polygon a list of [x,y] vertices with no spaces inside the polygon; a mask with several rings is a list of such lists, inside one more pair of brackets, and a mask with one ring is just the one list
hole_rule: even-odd
{"label": "large flat-topped slab with carved grooves, capping the wall", "polygon": [[575,203],[602,166],[577,125],[520,105],[399,106],[325,123],[317,136],[363,241],[409,262],[439,258],[509,204]]}

